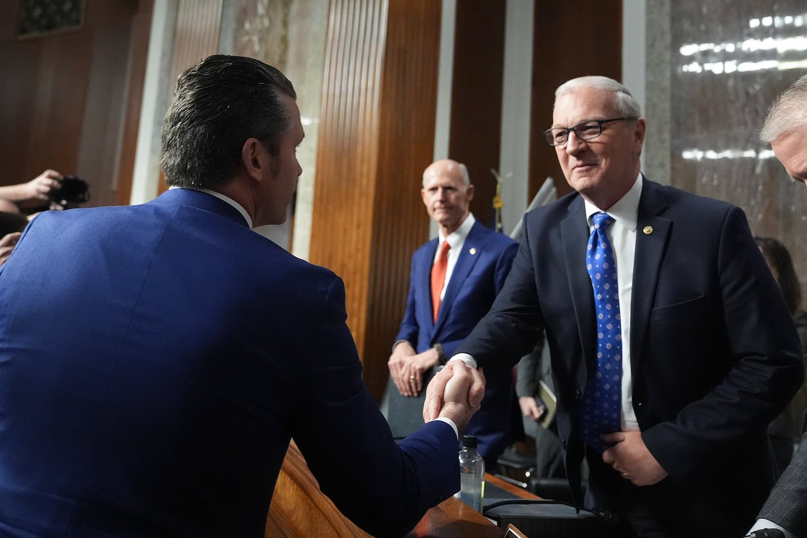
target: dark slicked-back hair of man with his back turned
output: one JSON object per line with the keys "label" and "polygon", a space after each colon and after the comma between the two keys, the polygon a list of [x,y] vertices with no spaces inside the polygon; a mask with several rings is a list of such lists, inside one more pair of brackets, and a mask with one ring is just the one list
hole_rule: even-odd
{"label": "dark slicked-back hair of man with his back turned", "polygon": [[170,186],[227,183],[251,137],[277,155],[292,127],[283,96],[297,98],[283,73],[243,56],[208,56],[179,77],[162,123],[161,165]]}

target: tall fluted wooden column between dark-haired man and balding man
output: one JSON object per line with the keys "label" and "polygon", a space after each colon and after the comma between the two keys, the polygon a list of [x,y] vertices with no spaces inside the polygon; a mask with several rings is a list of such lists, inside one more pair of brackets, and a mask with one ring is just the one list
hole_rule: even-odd
{"label": "tall fluted wooden column between dark-haired man and balding man", "polygon": [[440,2],[332,0],[317,152],[312,263],[345,280],[348,325],[378,399],[406,304],[433,157]]}

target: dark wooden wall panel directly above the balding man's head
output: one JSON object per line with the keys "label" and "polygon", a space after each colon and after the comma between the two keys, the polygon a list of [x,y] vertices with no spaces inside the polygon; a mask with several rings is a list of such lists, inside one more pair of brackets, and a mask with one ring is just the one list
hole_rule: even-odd
{"label": "dark wooden wall panel directly above the balding man's head", "polygon": [[454,33],[449,157],[468,167],[470,211],[494,227],[493,196],[500,167],[504,15],[507,2],[458,0]]}

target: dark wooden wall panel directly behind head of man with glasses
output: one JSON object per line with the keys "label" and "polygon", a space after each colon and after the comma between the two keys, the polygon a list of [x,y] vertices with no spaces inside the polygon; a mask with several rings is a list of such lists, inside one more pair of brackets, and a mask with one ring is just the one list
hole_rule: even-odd
{"label": "dark wooden wall panel directly behind head of man with glasses", "polygon": [[543,131],[552,124],[554,90],[583,75],[622,77],[622,0],[586,3],[535,0],[533,26],[533,100],[529,152],[529,197],[547,176],[558,197],[571,192],[555,150]]}

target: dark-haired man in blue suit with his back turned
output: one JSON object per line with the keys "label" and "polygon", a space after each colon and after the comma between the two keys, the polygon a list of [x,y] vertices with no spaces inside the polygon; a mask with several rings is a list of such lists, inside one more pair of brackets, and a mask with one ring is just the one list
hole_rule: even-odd
{"label": "dark-haired man in blue suit with his back turned", "polygon": [[251,230],[286,219],[302,140],[282,73],[210,56],[165,115],[170,190],[27,227],[0,271],[0,536],[263,536],[291,438],[375,536],[459,489],[483,377],[446,368],[449,409],[396,445],[341,279]]}

